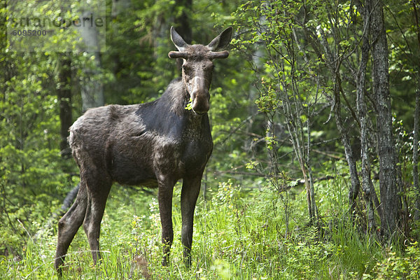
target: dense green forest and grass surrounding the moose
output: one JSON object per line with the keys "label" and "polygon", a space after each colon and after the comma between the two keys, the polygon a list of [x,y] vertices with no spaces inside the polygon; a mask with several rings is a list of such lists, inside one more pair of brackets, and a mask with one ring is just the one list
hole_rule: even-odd
{"label": "dense green forest and grass surrounding the moose", "polygon": [[[180,265],[179,241],[172,264],[160,265],[155,190],[113,186],[104,262],[90,266],[80,231],[66,277],[420,279],[419,1],[0,3],[6,279],[55,277],[57,221],[78,185],[69,126],[94,106],[160,97],[180,76],[167,56],[172,25],[203,44],[234,27],[211,85],[214,151],[197,203],[193,269]],[[106,28],[11,40],[10,7],[71,22],[83,5],[102,9]]]}

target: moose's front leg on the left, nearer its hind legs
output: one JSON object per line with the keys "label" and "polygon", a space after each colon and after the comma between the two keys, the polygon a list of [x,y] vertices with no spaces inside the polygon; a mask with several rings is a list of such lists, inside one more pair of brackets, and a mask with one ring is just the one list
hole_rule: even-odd
{"label": "moose's front leg on the left, nearer its hind legs", "polygon": [[159,212],[160,224],[162,225],[163,258],[162,265],[169,264],[169,251],[174,241],[174,230],[172,228],[172,193],[174,183],[169,180],[159,183]]}

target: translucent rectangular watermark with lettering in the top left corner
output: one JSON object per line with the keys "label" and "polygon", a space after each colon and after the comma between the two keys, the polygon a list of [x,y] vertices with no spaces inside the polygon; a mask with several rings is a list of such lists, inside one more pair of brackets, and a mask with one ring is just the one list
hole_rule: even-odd
{"label": "translucent rectangular watermark with lettering in the top left corner", "polygon": [[105,0],[7,2],[7,38],[21,52],[104,52]]}

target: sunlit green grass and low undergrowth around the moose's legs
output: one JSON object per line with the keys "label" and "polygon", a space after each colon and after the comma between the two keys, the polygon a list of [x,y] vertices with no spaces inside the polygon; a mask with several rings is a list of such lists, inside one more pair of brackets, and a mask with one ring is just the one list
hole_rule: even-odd
{"label": "sunlit green grass and low undergrowth around the moose's legs", "polygon": [[[416,243],[403,254],[360,235],[337,207],[346,208],[337,189],[342,186],[328,186],[335,195],[323,194],[335,211],[330,213],[333,222],[323,228],[307,226],[304,192],[294,190],[285,236],[284,204],[276,193],[268,188],[245,192],[221,183],[197,202],[189,270],[181,258],[180,187],[174,192],[170,265],[162,267],[155,195],[114,186],[102,221],[102,262],[92,265],[80,229],[66,257],[64,279],[419,279]],[[318,188],[322,193],[323,186]],[[56,238],[56,228],[51,228],[36,241],[29,237],[20,258],[0,256],[1,279],[57,279]]]}

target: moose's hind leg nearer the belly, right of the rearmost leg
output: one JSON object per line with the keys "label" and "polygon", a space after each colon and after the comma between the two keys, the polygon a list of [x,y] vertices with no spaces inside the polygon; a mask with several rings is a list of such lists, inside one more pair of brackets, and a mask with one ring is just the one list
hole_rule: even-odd
{"label": "moose's hind leg nearer the belly, right of the rearmost leg", "polygon": [[99,233],[101,231],[101,221],[104,216],[106,199],[108,198],[109,190],[111,189],[111,181],[99,178],[101,177],[97,176],[96,182],[87,184],[88,202],[85,220],[83,221],[83,228],[87,240],[89,241],[94,265],[96,265],[97,260],[101,259],[101,253],[99,251]]}

